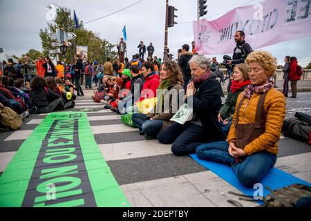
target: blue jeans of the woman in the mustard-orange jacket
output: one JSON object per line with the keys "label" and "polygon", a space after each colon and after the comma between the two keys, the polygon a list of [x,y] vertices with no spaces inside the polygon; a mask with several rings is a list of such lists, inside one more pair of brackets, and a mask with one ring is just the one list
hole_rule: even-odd
{"label": "blue jeans of the woman in the mustard-orange jacket", "polygon": [[276,155],[267,152],[254,153],[245,157],[243,162],[235,163],[228,149],[228,142],[213,142],[198,146],[196,154],[203,160],[229,164],[238,180],[249,188],[260,182],[276,163]]}

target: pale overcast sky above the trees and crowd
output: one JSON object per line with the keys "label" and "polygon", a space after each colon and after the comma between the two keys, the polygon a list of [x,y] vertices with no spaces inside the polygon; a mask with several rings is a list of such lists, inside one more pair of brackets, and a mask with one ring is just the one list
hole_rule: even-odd
{"label": "pale overcast sky above the trees and crowd", "polygon": [[[59,6],[75,10],[77,17],[82,21],[91,21],[129,6],[138,0],[0,0],[0,48],[8,55],[20,56],[30,48],[41,50],[39,38],[40,28],[47,27],[46,5],[56,3]],[[209,12],[203,18],[214,20],[245,3],[249,5],[262,0],[209,0]],[[182,44],[191,45],[194,40],[192,22],[196,20],[196,0],[170,0],[169,5],[178,8],[178,25],[169,28],[169,49],[174,58]],[[164,48],[164,19],[165,0],[144,0],[137,5],[119,12],[110,17],[85,24],[85,28],[100,33],[100,37],[113,44],[122,33],[126,25],[128,57],[138,52],[138,44],[144,41],[149,45],[153,42],[156,48],[155,55],[163,57]],[[232,42],[232,49],[234,48]],[[258,48],[255,48],[258,49]],[[311,61],[311,37],[286,41],[274,46],[262,48],[272,52],[279,64],[283,64],[285,55],[296,56],[301,66]],[[211,55],[212,56],[212,55]],[[216,55],[222,60],[223,55]]]}

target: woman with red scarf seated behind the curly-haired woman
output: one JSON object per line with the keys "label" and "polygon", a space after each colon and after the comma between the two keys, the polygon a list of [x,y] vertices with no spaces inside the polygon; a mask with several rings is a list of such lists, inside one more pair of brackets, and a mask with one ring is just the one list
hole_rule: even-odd
{"label": "woman with red scarf seated behind the curly-haired woman", "polygon": [[238,64],[234,66],[232,77],[233,81],[231,90],[229,90],[225,104],[220,109],[218,114],[218,122],[226,135],[228,134],[229,128],[232,124],[232,116],[234,115],[238,95],[240,95],[246,86],[250,84],[246,64]]}

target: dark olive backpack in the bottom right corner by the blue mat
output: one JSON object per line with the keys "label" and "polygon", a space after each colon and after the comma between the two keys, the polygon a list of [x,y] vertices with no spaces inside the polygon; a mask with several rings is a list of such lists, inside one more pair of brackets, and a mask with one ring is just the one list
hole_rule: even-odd
{"label": "dark olive backpack in the bottom right corner by the blue mat", "polygon": [[[296,207],[301,198],[309,198],[310,204],[311,187],[303,184],[292,184],[275,191],[265,187],[271,193],[263,198],[263,204],[258,207]],[[305,206],[304,204],[299,206]]]}

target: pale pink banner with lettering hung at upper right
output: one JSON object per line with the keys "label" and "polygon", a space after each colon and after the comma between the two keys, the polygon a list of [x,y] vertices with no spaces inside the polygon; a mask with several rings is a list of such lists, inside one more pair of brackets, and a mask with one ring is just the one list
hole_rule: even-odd
{"label": "pale pink banner with lettering hung at upper right", "polygon": [[196,50],[204,55],[232,53],[234,33],[245,32],[253,49],[311,35],[311,0],[267,0],[236,8],[214,21],[194,21]]}

